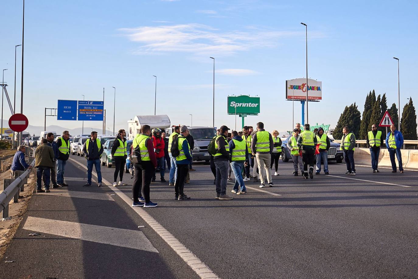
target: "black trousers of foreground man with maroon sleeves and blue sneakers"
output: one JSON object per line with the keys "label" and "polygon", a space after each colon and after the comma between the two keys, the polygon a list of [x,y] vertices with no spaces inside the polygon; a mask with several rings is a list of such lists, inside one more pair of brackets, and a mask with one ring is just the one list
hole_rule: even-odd
{"label": "black trousers of foreground man with maroon sleeves and blue sneakers", "polygon": [[132,184],[132,197],[138,202],[138,195],[144,193],[145,202],[150,202],[150,184],[154,174],[154,166],[151,161],[142,161],[141,164],[134,164],[135,179]]}

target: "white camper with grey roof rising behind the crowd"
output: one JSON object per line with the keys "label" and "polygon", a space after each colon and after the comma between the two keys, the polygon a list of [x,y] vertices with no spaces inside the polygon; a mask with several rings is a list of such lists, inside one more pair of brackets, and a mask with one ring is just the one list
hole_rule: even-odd
{"label": "white camper with grey roof rising behind the crowd", "polygon": [[132,120],[128,120],[128,138],[133,140],[135,136],[141,133],[141,127],[143,125],[150,125],[151,129],[160,128],[165,131],[170,127],[171,122],[168,115],[136,115]]}

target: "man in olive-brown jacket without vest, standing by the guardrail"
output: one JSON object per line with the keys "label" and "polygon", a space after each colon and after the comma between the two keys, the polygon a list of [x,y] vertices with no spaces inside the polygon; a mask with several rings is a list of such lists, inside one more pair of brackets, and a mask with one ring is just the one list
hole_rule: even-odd
{"label": "man in olive-brown jacket without vest, standing by the guardrail", "polygon": [[[36,170],[36,192],[49,191],[49,180],[51,179],[51,168],[54,166],[54,150],[48,145],[46,138],[43,138],[41,145],[35,150]],[[42,189],[42,175],[45,174],[45,191]]]}

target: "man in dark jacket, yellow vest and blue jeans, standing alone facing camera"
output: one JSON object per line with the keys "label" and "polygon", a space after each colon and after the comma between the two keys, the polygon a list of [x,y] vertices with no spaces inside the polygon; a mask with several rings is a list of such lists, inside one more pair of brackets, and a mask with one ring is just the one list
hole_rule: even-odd
{"label": "man in dark jacket, yellow vest and blue jeans, standing alone facing camera", "polygon": [[102,157],[103,146],[97,138],[97,132],[93,131],[90,138],[83,145],[83,153],[87,159],[87,183],[83,186],[92,186],[93,165],[97,172],[98,187],[102,186],[102,172],[100,171],[100,157]]}

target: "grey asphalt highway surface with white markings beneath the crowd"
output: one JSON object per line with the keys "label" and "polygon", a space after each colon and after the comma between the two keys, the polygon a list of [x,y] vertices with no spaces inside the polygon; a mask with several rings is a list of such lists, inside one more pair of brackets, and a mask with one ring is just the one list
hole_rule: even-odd
{"label": "grey asphalt highway surface with white markings beneath the crowd", "polygon": [[[85,159],[70,158],[70,186],[33,194],[0,278],[418,278],[416,170],[346,176],[331,163],[329,176],[305,180],[280,161],[275,187],[246,182],[235,195],[229,182],[234,200],[222,201],[196,164],[191,200],[160,182],[158,207],[133,208],[130,174],[128,186],[82,187]],[[114,171],[102,166],[105,183]]]}

